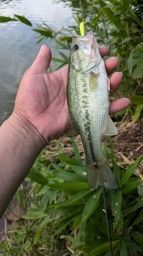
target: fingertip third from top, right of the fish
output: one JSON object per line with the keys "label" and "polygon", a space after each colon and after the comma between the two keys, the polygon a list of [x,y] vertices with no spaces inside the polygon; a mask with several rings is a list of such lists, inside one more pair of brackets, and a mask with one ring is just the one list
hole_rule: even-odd
{"label": "fingertip third from top, right of the fish", "polygon": [[119,88],[120,83],[122,82],[123,74],[121,72],[115,72],[110,77],[110,94],[114,94],[114,92]]}

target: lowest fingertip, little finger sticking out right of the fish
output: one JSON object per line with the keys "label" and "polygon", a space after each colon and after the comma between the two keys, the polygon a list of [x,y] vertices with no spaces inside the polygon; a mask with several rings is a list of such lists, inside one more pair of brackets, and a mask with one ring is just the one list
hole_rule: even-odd
{"label": "lowest fingertip, little finger sticking out right of the fish", "polygon": [[119,112],[120,110],[125,109],[125,107],[128,107],[129,104],[130,104],[130,100],[128,98],[122,98],[122,99],[113,101],[110,104],[109,114],[111,115],[116,112]]}

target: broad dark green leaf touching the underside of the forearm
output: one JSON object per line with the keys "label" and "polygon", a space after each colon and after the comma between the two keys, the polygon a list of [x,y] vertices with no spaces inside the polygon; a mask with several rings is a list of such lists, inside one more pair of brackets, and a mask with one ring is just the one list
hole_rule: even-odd
{"label": "broad dark green leaf touching the underside of the forearm", "polygon": [[43,176],[43,174],[40,171],[36,170],[33,167],[29,171],[29,174],[27,175],[27,177],[29,177],[30,179],[32,179],[33,181],[35,181],[41,185],[48,184],[48,179],[46,179],[46,177]]}

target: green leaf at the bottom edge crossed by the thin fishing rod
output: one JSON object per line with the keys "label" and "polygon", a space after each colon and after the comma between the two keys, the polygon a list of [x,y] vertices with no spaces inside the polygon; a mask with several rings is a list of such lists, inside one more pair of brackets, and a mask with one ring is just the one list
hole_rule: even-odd
{"label": "green leaf at the bottom edge crossed by the thin fishing rod", "polygon": [[[112,248],[114,246],[119,245],[120,241],[113,241],[111,242]],[[106,252],[109,249],[109,243],[103,243],[102,245],[98,246],[97,248],[93,249],[91,252],[89,252],[88,256],[96,256],[100,255],[102,252]]]}

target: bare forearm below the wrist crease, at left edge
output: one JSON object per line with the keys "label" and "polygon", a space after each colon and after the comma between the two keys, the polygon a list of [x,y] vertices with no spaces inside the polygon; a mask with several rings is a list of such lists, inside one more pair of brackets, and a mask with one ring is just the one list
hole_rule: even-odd
{"label": "bare forearm below the wrist crease, at left edge", "polygon": [[35,128],[14,115],[0,127],[0,218],[45,144]]}

